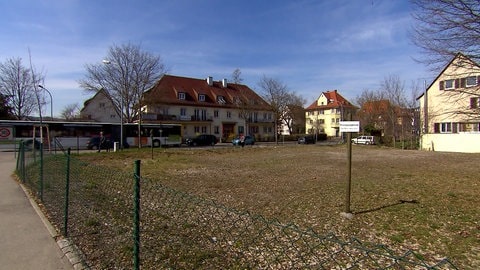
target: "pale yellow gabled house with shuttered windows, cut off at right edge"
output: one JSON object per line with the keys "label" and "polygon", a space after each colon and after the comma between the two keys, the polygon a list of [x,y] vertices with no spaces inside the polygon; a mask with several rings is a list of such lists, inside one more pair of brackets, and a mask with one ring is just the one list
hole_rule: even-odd
{"label": "pale yellow gabled house with shuttered windows, cut off at right edge", "polygon": [[458,53],[420,101],[420,148],[480,153],[480,66]]}

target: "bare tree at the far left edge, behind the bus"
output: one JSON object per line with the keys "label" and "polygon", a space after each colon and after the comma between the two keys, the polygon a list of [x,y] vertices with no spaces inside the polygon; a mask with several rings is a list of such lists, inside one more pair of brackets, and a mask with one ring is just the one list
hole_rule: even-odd
{"label": "bare tree at the far left edge, behind the bus", "polygon": [[41,96],[37,100],[38,92],[35,91],[43,79],[41,73],[25,67],[21,58],[0,63],[0,93],[7,98],[16,119],[24,119],[37,110],[37,105],[45,103]]}

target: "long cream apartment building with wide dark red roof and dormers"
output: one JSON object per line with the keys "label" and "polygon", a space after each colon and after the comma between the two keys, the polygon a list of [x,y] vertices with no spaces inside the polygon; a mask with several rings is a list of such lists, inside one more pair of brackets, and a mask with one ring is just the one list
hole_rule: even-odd
{"label": "long cream apartment building with wide dark red roof and dormers", "polygon": [[273,140],[275,134],[267,102],[246,85],[212,77],[162,76],[144,93],[142,121],[180,123],[185,138],[213,134],[223,142],[239,134]]}

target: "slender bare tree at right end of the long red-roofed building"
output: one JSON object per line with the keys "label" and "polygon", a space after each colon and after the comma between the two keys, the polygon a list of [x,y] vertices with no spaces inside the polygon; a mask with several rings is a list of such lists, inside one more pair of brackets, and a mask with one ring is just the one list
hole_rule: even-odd
{"label": "slender bare tree at right end of the long red-roofed building", "polygon": [[278,124],[281,121],[282,114],[288,110],[291,100],[291,93],[288,91],[287,85],[273,78],[263,75],[258,82],[258,86],[262,89],[263,99],[270,105],[270,109],[275,119],[275,142],[278,143]]}

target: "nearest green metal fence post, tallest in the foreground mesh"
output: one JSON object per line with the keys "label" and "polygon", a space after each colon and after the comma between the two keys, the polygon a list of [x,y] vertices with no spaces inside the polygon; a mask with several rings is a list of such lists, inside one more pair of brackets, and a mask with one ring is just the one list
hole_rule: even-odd
{"label": "nearest green metal fence post, tallest in the foreground mesh", "polygon": [[133,269],[140,269],[140,160],[134,168],[134,211],[133,211]]}

